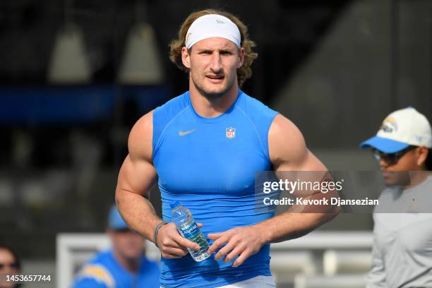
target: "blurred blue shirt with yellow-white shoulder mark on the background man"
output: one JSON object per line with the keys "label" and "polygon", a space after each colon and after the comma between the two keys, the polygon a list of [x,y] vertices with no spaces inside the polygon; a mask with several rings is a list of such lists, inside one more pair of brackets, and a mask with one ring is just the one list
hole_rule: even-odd
{"label": "blurred blue shirt with yellow-white shoulder mark on the background man", "polygon": [[159,288],[159,277],[159,265],[145,256],[133,274],[116,262],[112,251],[104,251],[83,266],[73,288]]}

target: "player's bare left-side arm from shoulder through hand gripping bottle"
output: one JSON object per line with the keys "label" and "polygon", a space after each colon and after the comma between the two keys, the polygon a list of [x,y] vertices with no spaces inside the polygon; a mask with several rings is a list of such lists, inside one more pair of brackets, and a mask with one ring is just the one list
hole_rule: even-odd
{"label": "player's bare left-side arm from shoulder through hand gripping bottle", "polygon": [[[153,239],[157,224],[162,222],[150,201],[145,198],[157,179],[152,164],[152,112],[139,119],[128,139],[129,154],[121,165],[116,187],[116,203],[121,216],[131,229],[157,244],[164,258],[180,258],[198,244],[184,239],[174,223],[162,226]],[[198,224],[200,225],[200,224]]]}

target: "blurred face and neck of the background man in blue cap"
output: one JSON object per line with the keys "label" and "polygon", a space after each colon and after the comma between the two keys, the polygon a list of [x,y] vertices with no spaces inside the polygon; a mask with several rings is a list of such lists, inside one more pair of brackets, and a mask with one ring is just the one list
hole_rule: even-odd
{"label": "blurred face and neck of the background man in blue cap", "polygon": [[121,231],[107,230],[112,241],[114,257],[129,272],[137,272],[141,256],[144,254],[144,238],[126,229]]}

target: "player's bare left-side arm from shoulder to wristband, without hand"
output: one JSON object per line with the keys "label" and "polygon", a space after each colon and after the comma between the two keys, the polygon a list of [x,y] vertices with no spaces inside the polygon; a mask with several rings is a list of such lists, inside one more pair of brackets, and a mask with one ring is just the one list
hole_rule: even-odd
{"label": "player's bare left-side arm from shoulder to wristband, without hand", "polygon": [[133,126],[128,139],[129,154],[121,165],[116,187],[116,203],[128,226],[152,241],[157,217],[145,198],[157,175],[152,164],[152,112]]}

